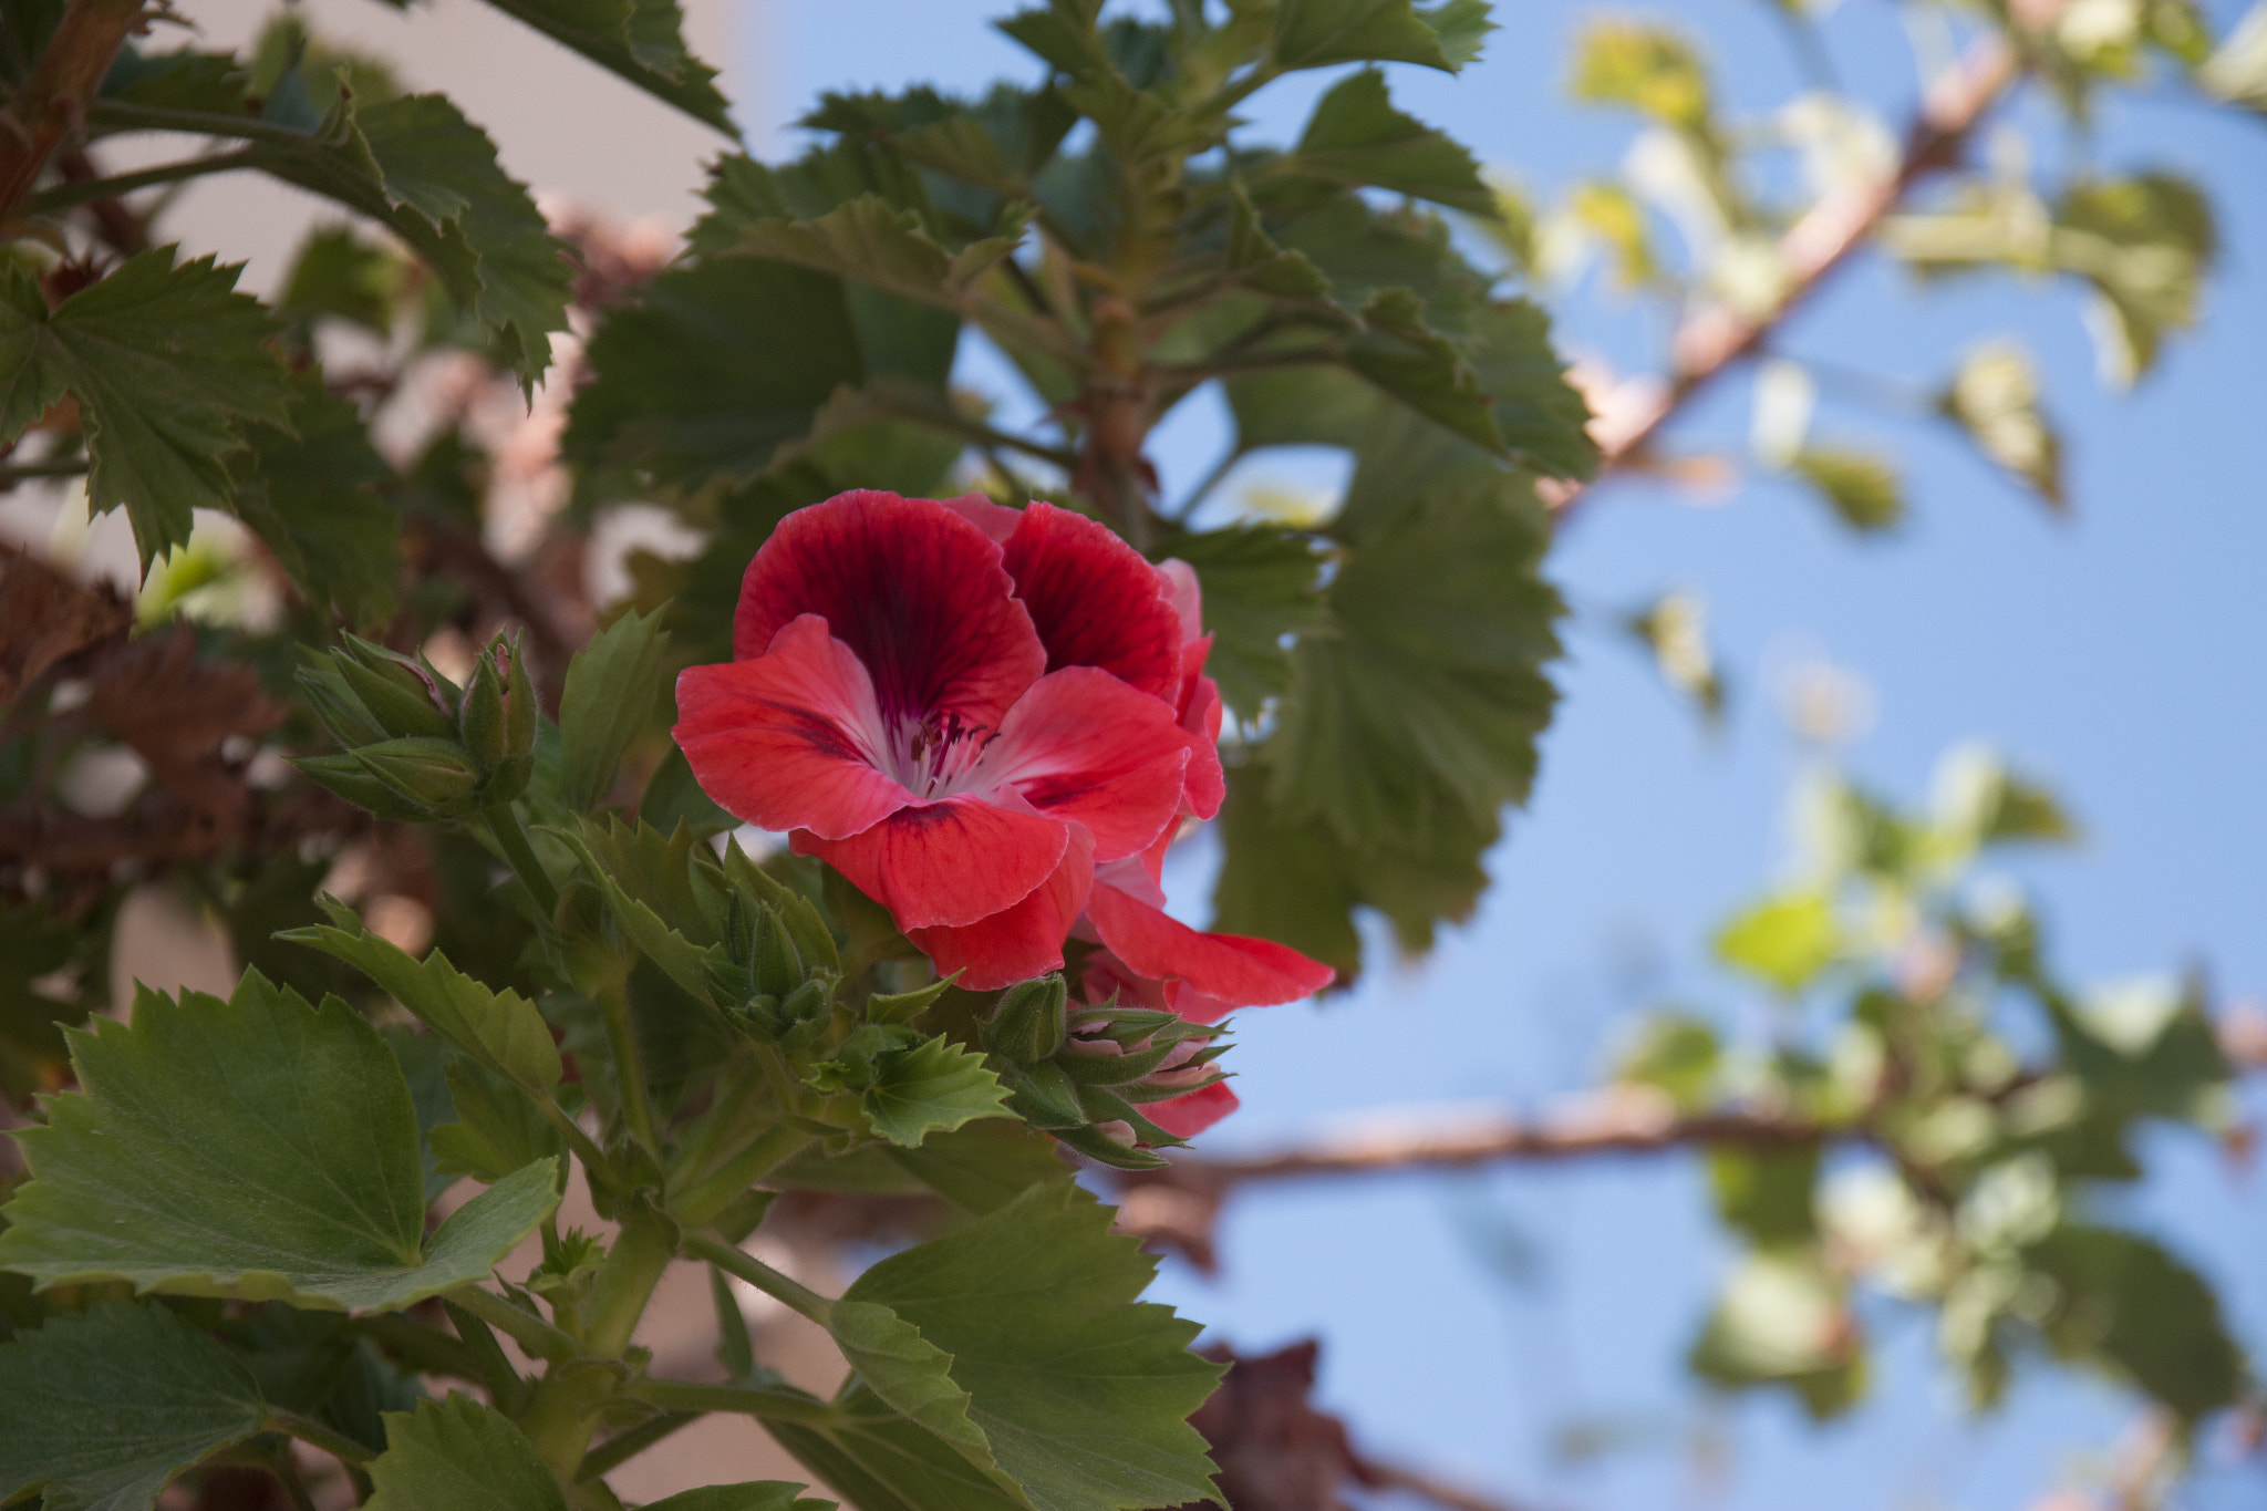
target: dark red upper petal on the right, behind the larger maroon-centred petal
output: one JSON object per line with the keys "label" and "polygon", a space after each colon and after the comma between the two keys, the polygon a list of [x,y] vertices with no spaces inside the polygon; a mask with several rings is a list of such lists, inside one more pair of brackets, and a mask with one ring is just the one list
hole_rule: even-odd
{"label": "dark red upper petal on the right, behind the larger maroon-centred petal", "polygon": [[1109,526],[1034,503],[1007,541],[1007,569],[1047,671],[1099,666],[1165,702],[1181,691],[1181,616],[1168,584]]}

